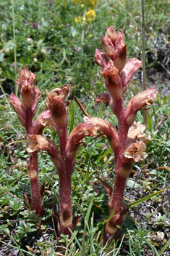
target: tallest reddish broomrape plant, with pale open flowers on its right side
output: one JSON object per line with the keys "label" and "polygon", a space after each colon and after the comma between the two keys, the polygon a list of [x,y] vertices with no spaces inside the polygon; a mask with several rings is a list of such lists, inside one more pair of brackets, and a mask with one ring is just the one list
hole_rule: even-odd
{"label": "tallest reddish broomrape plant, with pale open flowers on its right side", "polygon": [[[141,62],[135,58],[127,61],[127,47],[124,43],[124,34],[114,31],[113,26],[106,28],[106,36],[102,36],[101,52],[95,50],[95,63],[101,66],[106,87],[109,92],[98,95],[96,102],[109,105],[111,111],[118,119],[119,128],[116,128],[109,121],[100,118],[89,118],[85,116],[85,124],[91,124],[98,129],[102,135],[106,135],[109,144],[114,151],[115,157],[115,180],[114,189],[103,182],[108,193],[108,204],[110,215],[114,215],[106,222],[103,235],[103,244],[111,238],[117,238],[119,226],[124,223],[128,207],[123,205],[124,187],[127,177],[132,169],[132,163],[144,160],[146,135],[143,134],[145,125],[135,123],[137,111],[145,105],[153,104],[157,91],[155,87],[140,92],[132,97],[124,109],[124,92],[126,92],[129,81],[140,68]],[[102,180],[101,180],[102,181]]]}

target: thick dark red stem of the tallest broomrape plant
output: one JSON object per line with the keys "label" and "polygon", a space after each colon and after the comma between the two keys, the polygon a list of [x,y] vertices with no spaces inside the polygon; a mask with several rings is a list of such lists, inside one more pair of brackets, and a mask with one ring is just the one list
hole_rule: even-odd
{"label": "thick dark red stem of the tallest broomrape plant", "polygon": [[111,237],[113,234],[114,239],[116,239],[119,233],[119,228],[117,228],[116,225],[122,226],[122,224],[124,223],[123,199],[127,177],[122,177],[121,175],[119,175],[119,169],[122,167],[122,156],[126,149],[127,133],[129,127],[124,117],[125,111],[123,99],[119,100],[116,104],[116,116],[119,122],[119,145],[114,149],[116,175],[114,180],[114,190],[111,193],[111,199],[109,199],[110,215],[114,211],[114,209],[116,209],[114,212],[114,216],[111,218],[111,220],[109,220],[108,223],[106,223],[104,229],[103,244],[106,244],[109,237]]}

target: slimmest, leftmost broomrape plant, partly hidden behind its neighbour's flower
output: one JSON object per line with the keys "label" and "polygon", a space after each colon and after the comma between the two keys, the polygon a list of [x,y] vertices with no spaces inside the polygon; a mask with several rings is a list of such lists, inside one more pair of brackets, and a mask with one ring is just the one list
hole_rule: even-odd
{"label": "slimmest, leftmost broomrape plant, partly hidden behind its neighbour's flower", "polygon": [[[35,116],[38,107],[38,100],[41,97],[41,91],[35,86],[36,75],[30,73],[27,65],[22,70],[18,71],[17,86],[19,87],[22,101],[13,93],[10,95],[10,103],[17,113],[20,123],[25,127],[27,135],[35,134],[33,116]],[[41,202],[43,193],[40,194],[38,181],[38,152],[30,153],[30,160],[27,164],[27,174],[30,178],[31,193],[32,193],[32,209],[37,215],[41,215]],[[29,200],[30,201],[30,200]]]}

